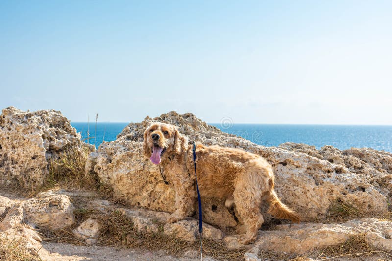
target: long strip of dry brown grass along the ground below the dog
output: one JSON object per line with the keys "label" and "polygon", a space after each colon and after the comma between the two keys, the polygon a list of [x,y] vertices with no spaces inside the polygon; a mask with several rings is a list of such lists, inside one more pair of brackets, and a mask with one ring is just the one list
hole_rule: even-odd
{"label": "long strip of dry brown grass along the ground below the dog", "polygon": [[[112,247],[142,247],[150,251],[165,250],[166,253],[181,256],[187,250],[200,251],[199,241],[190,243],[177,239],[174,235],[169,236],[163,233],[163,224],[157,233],[137,233],[133,228],[131,220],[122,215],[119,211],[110,214],[103,214],[94,209],[76,209],[76,223],[67,229],[57,232],[41,230],[46,241],[72,243],[75,245],[85,245],[84,241],[75,239],[72,230],[87,218],[97,220],[102,229],[97,239],[98,245]],[[221,260],[243,260],[245,249],[229,250],[226,246],[214,240],[202,239],[203,255],[208,255]]]}

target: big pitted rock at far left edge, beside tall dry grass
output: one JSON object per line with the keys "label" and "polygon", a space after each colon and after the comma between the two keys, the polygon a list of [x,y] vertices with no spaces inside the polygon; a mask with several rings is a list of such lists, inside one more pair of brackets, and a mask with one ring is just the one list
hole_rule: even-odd
{"label": "big pitted rock at far left edge, beside tall dry grass", "polygon": [[37,187],[47,178],[48,161],[65,148],[81,148],[80,134],[59,111],[25,112],[15,107],[0,115],[0,184]]}

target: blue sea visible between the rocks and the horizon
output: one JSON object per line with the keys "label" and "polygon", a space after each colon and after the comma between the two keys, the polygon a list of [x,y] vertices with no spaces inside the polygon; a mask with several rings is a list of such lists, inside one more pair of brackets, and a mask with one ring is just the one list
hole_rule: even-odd
{"label": "blue sea visible between the rocks and the horizon", "polygon": [[[81,132],[86,142],[96,144],[116,139],[128,123],[90,123],[90,139],[87,139],[87,122],[71,122]],[[392,152],[391,125],[295,125],[295,124],[230,124],[210,123],[224,132],[236,134],[254,143],[264,146],[278,146],[284,142],[306,143],[320,149],[332,145],[344,150],[351,147],[369,147],[376,150]]]}

